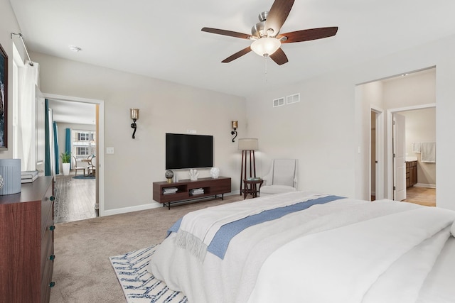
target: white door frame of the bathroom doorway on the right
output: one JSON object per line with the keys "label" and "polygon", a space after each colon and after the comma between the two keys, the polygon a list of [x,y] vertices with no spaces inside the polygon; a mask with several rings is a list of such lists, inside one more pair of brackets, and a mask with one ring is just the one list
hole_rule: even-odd
{"label": "white door frame of the bathroom doorway on the right", "polygon": [[387,109],[387,199],[393,199],[393,114],[400,111],[412,111],[414,109],[430,109],[436,107],[436,103],[421,104],[415,106]]}

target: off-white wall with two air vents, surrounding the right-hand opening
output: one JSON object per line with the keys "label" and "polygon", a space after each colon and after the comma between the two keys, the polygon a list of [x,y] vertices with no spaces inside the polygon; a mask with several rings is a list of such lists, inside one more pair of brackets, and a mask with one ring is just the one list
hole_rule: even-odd
{"label": "off-white wall with two air vents, surrounding the right-hand opening", "polygon": [[[449,131],[455,129],[454,48],[451,36],[249,97],[249,133],[259,138],[264,167],[270,158],[299,158],[299,189],[368,199],[370,104],[358,98],[356,84],[436,66],[437,205],[455,209]],[[272,109],[272,99],[296,92],[300,103]]]}

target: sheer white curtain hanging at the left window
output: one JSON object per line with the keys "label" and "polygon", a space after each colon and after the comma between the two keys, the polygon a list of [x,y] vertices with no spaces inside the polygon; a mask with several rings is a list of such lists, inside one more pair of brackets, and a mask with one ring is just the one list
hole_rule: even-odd
{"label": "sheer white curtain hanging at the left window", "polygon": [[18,157],[21,170],[36,170],[36,85],[38,84],[38,63],[33,66],[26,62],[22,69],[18,97]]}

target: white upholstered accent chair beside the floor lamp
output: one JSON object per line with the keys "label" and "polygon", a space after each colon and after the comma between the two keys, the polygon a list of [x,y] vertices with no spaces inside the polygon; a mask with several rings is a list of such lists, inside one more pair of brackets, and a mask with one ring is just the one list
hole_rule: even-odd
{"label": "white upholstered accent chair beside the floor lamp", "polygon": [[259,194],[261,197],[269,194],[295,192],[297,190],[297,159],[274,159],[267,175],[263,177],[264,185]]}

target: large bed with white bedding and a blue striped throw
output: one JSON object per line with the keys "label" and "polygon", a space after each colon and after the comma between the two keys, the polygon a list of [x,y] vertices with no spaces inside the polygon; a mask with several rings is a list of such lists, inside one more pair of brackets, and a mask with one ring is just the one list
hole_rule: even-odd
{"label": "large bed with white bedding and a blue striped throw", "polygon": [[290,192],[193,211],[147,270],[189,302],[454,302],[455,211]]}

